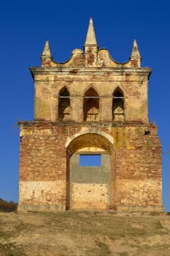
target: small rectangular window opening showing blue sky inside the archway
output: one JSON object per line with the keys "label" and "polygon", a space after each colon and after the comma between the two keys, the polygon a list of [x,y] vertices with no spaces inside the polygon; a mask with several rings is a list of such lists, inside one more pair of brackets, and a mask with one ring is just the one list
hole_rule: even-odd
{"label": "small rectangular window opening showing blue sky inside the archway", "polygon": [[101,154],[80,154],[80,166],[101,166]]}

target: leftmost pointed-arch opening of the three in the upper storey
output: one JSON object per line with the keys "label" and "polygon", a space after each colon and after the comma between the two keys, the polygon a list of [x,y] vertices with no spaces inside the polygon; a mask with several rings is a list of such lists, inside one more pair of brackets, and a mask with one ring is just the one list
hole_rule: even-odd
{"label": "leftmost pointed-arch opening of the three in the upper storey", "polygon": [[70,120],[70,99],[69,91],[64,87],[61,89],[58,98],[58,119],[62,121]]}

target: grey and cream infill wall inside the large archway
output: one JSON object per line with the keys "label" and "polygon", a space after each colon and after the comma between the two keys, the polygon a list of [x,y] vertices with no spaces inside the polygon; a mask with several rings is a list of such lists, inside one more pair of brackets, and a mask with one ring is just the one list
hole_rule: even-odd
{"label": "grey and cream infill wall inside the large archway", "polygon": [[[93,154],[93,151],[86,153]],[[70,208],[107,209],[110,206],[110,155],[101,154],[101,166],[80,166],[80,154],[70,158]]]}

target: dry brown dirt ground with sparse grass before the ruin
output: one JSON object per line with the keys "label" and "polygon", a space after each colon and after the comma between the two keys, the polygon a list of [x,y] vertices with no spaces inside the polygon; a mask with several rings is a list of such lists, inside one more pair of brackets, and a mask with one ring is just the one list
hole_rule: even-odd
{"label": "dry brown dirt ground with sparse grass before the ruin", "polygon": [[1,212],[0,255],[170,256],[170,216]]}

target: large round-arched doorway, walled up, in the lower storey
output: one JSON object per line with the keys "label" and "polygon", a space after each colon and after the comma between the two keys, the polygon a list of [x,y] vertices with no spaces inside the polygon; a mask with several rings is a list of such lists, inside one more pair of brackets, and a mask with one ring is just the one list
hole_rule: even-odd
{"label": "large round-arched doorway, walled up, in the lower storey", "polygon": [[[67,148],[67,209],[108,209],[114,180],[113,145],[102,135],[86,133]],[[95,157],[100,165],[81,165],[81,156]]]}

